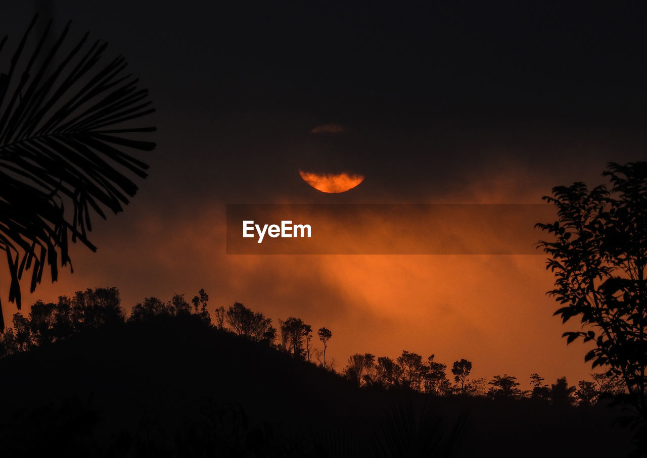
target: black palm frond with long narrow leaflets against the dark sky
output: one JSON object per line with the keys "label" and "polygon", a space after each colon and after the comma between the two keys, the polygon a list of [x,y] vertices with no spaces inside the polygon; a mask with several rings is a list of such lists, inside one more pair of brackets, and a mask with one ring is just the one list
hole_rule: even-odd
{"label": "black palm frond with long narrow leaflets against the dark sky", "polygon": [[[37,20],[0,73],[0,249],[9,301],[18,309],[25,271],[32,269],[33,292],[46,264],[52,281],[59,264],[71,264],[70,241],[96,251],[87,238],[94,215],[122,211],[138,189],[129,176],[147,175],[148,165],[128,152],[155,148],[133,138],[155,130],[132,124],[155,110],[148,90],[124,74],[124,57],[102,61],[107,43],[89,43],[88,34],[67,46],[70,23],[49,45],[51,21],[43,36],[30,39]],[[0,41],[0,58],[7,41]]]}

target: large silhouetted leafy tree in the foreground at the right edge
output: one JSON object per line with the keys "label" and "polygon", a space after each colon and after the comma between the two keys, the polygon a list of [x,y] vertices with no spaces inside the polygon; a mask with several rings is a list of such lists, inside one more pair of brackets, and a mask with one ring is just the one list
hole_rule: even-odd
{"label": "large silhouetted leafy tree in the foreground at the right edge", "polygon": [[584,329],[565,332],[567,343],[595,344],[584,359],[624,380],[624,401],[647,428],[647,162],[609,163],[603,175],[610,192],[576,182],[543,198],[558,221],[536,225],[554,235],[539,246],[555,275],[549,293],[563,306],[555,315],[578,317]]}

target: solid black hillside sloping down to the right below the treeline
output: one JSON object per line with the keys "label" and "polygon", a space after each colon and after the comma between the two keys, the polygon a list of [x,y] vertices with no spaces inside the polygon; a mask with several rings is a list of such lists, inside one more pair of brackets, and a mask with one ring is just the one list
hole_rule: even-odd
{"label": "solid black hillside sloping down to the right below the treeline", "polygon": [[1,359],[0,402],[3,456],[621,457],[631,441],[611,408],[358,389],[195,316]]}

